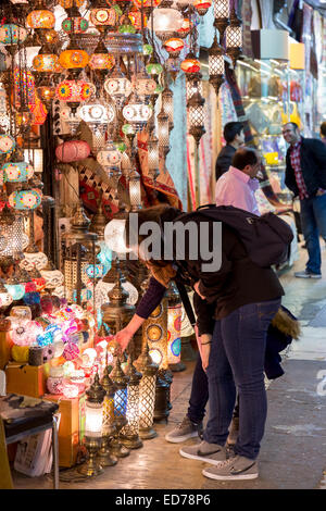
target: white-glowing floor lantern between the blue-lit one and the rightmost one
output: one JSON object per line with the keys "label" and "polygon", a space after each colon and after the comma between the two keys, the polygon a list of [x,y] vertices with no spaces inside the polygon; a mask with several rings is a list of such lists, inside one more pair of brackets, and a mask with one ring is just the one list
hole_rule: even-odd
{"label": "white-glowing floor lantern between the blue-lit one and the rightmost one", "polygon": [[126,375],[129,378],[127,388],[127,424],[122,428],[121,441],[128,449],[138,449],[142,447],[142,441],[139,438],[139,383],[141,374],[136,370],[133,360],[134,357],[130,353],[126,369]]}

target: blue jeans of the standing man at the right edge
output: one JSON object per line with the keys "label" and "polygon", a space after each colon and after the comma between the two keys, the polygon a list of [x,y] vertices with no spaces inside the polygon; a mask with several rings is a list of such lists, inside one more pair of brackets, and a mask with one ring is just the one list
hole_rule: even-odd
{"label": "blue jeans of the standing man at the right edge", "polygon": [[312,273],[321,273],[319,236],[326,240],[326,194],[303,199],[300,203],[302,233],[309,253],[306,270]]}

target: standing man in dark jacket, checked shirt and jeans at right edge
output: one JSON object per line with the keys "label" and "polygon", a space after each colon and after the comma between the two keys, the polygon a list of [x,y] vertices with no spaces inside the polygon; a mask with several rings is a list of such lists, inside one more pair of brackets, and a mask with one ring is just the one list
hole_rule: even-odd
{"label": "standing man in dark jacket, checked shirt and jeans at right edge", "polygon": [[286,186],[299,196],[301,225],[309,259],[299,278],[322,278],[319,236],[326,240],[326,147],[316,138],[304,138],[296,123],[283,126],[290,145],[286,155]]}

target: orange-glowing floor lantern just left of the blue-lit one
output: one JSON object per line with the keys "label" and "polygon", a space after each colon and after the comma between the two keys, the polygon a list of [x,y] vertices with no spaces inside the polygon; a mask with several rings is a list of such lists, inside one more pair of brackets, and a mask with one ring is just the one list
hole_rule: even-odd
{"label": "orange-glowing floor lantern just left of the blue-lit one", "polygon": [[111,438],[115,431],[114,425],[114,394],[116,390],[115,385],[110,378],[109,366],[104,369],[103,377],[101,379],[101,385],[105,390],[104,401],[103,401],[103,424],[102,424],[102,438],[101,438],[101,448],[99,450],[98,459],[99,463],[102,466],[113,466],[117,463],[116,457],[111,453]]}

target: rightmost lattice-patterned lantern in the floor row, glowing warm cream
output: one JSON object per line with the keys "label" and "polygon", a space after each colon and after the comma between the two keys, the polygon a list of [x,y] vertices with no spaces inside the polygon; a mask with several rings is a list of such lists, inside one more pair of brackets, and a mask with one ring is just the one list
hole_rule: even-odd
{"label": "rightmost lattice-patterned lantern in the floor row, glowing warm cream", "polygon": [[155,364],[150,354],[147,341],[136,361],[137,370],[142,374],[139,384],[139,436],[142,440],[154,438],[156,432],[153,428],[155,386],[159,365]]}

